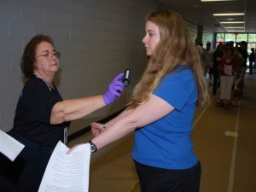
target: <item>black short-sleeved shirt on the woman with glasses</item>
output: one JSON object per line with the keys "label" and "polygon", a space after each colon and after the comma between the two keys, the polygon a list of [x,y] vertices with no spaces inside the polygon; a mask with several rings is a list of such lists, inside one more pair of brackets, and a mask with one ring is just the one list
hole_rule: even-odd
{"label": "black short-sleeved shirt on the woman with glasses", "polygon": [[70,125],[70,122],[49,124],[51,110],[60,101],[56,88],[49,88],[43,79],[32,76],[20,93],[13,130],[33,143],[55,148],[60,140],[64,142],[64,129]]}

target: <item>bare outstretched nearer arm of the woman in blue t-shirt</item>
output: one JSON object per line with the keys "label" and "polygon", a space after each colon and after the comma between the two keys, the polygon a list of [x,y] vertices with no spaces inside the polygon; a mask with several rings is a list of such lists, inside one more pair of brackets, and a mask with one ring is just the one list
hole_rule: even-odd
{"label": "bare outstretched nearer arm of the woman in blue t-shirt", "polygon": [[109,143],[125,137],[131,131],[163,118],[166,114],[171,113],[172,110],[174,110],[172,105],[160,97],[153,95],[148,102],[133,109],[131,113],[124,117],[117,119],[113,124],[108,125],[101,134],[94,137],[91,141],[96,144],[97,149],[103,148]]}

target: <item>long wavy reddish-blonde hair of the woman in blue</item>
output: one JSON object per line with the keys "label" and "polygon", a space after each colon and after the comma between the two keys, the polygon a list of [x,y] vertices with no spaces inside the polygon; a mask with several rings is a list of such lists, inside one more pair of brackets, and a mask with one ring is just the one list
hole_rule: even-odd
{"label": "long wavy reddish-blonde hair of the woman in blue", "polygon": [[153,90],[160,84],[160,80],[166,74],[172,73],[180,64],[188,65],[195,74],[199,91],[198,104],[203,105],[209,99],[204,67],[183,18],[168,9],[146,16],[146,21],[159,26],[160,42],[150,55],[148,67],[134,88],[128,106],[136,108],[147,102]]}

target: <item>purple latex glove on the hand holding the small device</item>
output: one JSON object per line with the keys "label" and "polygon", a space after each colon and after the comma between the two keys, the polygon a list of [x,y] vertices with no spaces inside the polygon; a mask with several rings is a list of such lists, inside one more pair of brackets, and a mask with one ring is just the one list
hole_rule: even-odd
{"label": "purple latex glove on the hand holding the small device", "polygon": [[106,105],[114,102],[116,97],[121,96],[121,92],[125,88],[125,84],[123,84],[120,79],[124,76],[124,73],[119,73],[113,81],[108,85],[107,92],[103,95],[103,100]]}

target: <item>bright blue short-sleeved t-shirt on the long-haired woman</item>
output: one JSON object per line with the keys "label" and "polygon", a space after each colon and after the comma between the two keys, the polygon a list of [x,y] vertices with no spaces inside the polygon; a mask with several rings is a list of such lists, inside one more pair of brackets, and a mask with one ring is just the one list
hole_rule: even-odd
{"label": "bright blue short-sleeved t-shirt on the long-haired woman", "polygon": [[132,158],[165,169],[195,166],[198,159],[190,137],[198,99],[194,74],[189,67],[177,67],[160,81],[153,94],[170,103],[174,110],[135,131]]}

